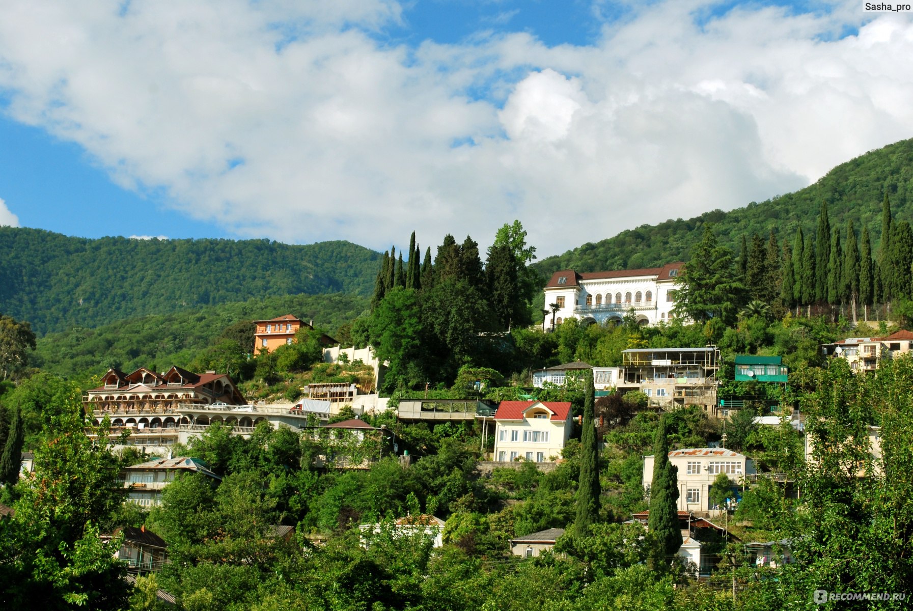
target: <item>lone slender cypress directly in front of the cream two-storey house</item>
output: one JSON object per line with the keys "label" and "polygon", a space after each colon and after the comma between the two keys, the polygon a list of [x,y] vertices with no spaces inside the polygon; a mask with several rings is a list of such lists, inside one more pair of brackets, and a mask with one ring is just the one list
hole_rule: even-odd
{"label": "lone slender cypress directly in front of the cream two-storey house", "polygon": [[666,418],[660,418],[654,438],[653,480],[650,484],[650,513],[647,528],[656,542],[650,568],[668,570],[671,558],[682,544],[678,526],[678,469],[669,462]]}

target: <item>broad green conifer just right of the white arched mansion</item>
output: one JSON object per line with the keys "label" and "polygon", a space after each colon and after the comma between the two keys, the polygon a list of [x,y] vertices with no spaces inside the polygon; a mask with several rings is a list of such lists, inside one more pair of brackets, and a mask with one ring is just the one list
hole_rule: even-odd
{"label": "broad green conifer just right of the white arched mansion", "polygon": [[745,288],[732,269],[729,248],[717,245],[712,227],[704,227],[704,237],[691,253],[682,270],[681,288],[676,291],[676,315],[705,322],[719,318],[735,321]]}

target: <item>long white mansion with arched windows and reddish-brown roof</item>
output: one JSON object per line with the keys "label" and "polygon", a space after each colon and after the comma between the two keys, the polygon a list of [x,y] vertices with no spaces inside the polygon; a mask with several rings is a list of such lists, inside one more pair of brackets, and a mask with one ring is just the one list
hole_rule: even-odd
{"label": "long white mansion with arched windows and reddish-brown roof", "polygon": [[553,329],[571,317],[587,324],[621,322],[632,309],[640,324],[668,321],[673,318],[678,274],[684,265],[677,261],[661,268],[556,271],[545,285],[545,308],[550,310],[545,326]]}

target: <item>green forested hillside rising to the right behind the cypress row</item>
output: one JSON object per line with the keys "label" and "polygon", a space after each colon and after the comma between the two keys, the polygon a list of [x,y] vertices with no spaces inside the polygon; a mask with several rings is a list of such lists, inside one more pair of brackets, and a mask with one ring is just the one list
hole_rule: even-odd
{"label": "green forested hillside rising to the right behind the cypress row", "polygon": [[795,193],[752,202],[729,212],[712,210],[694,218],[667,220],[621,232],[595,244],[588,243],[562,255],[543,258],[535,267],[549,275],[558,269],[597,271],[637,269],[687,260],[690,248],[700,239],[700,226],[713,223],[719,243],[738,252],[743,235],[766,237],[773,229],[783,237],[795,236],[802,226],[806,236],[814,235],[815,223],[826,201],[831,226],[845,229],[850,218],[860,234],[867,226],[872,247],[881,237],[881,205],[885,194],[896,218],[913,220],[913,140],[890,144],[847,163],[841,163],[817,183]]}

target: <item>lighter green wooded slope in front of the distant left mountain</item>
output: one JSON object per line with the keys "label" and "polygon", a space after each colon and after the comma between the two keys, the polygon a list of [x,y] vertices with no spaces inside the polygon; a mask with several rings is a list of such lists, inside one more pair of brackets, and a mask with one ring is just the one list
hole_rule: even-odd
{"label": "lighter green wooded slope in front of the distant left mountain", "polygon": [[238,321],[295,314],[334,333],[368,307],[355,295],[288,295],[197,308],[194,311],[143,316],[111,322],[98,329],[74,327],[48,333],[37,341],[33,365],[55,374],[102,374],[109,367],[124,371],[144,366],[187,366]]}

